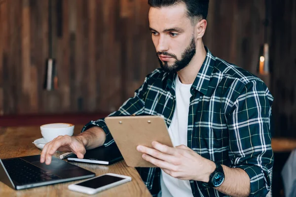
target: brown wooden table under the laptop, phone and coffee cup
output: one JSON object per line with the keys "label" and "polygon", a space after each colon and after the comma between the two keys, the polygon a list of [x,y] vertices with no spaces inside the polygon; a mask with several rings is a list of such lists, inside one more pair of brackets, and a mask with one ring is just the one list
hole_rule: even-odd
{"label": "brown wooden table under the laptop, phone and coffee cup", "polygon": [[[79,133],[81,131],[81,128],[82,126],[75,126],[74,134]],[[0,127],[0,158],[6,159],[40,154],[41,150],[37,149],[37,147],[32,144],[35,139],[40,137],[42,136],[39,127]],[[59,157],[60,154],[62,153],[56,152],[54,156]],[[131,182],[111,188],[93,196],[151,197],[137,170],[133,167],[128,167],[124,161],[109,166],[74,162],[72,162],[72,164],[95,172],[96,176],[111,172],[132,177]],[[88,195],[83,195],[81,193],[76,193],[68,190],[68,185],[74,182],[67,182],[19,191],[13,190],[0,182],[0,197],[89,197]]]}

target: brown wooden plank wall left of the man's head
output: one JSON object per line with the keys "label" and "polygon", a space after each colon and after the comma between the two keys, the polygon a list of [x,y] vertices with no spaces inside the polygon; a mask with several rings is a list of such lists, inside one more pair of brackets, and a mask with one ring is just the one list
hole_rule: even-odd
{"label": "brown wooden plank wall left of the man's head", "polygon": [[146,0],[52,0],[52,7],[59,89],[48,92],[48,0],[1,1],[2,114],[112,111],[158,66]]}

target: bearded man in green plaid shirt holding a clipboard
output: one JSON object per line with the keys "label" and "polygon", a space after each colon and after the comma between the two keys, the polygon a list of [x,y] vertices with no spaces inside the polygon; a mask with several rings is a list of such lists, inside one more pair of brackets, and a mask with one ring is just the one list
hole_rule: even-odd
{"label": "bearded man in green plaid shirt holding a clipboard", "polygon": [[[203,45],[208,0],[148,0],[149,29],[161,68],[110,116],[161,115],[174,148],[138,146],[159,168],[138,168],[153,196],[263,197],[270,190],[272,96],[265,84]],[[114,141],[104,119],[77,136],[44,146],[41,162],[56,150],[83,158],[85,149]]]}

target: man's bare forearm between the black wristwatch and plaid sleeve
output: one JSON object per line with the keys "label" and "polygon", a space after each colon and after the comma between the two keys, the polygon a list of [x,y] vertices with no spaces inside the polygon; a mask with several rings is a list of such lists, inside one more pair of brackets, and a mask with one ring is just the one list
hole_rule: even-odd
{"label": "man's bare forearm between the black wristwatch and plaid sleeve", "polygon": [[250,177],[241,168],[231,168],[222,165],[225,180],[215,188],[219,192],[232,197],[248,197],[250,195]]}

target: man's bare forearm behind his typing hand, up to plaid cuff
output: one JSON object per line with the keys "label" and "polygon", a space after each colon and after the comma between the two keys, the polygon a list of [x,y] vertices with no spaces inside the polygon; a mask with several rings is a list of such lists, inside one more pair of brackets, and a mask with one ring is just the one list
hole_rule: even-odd
{"label": "man's bare forearm behind his typing hand, up to plaid cuff", "polygon": [[82,141],[85,149],[93,149],[102,146],[106,140],[106,133],[100,127],[92,127],[76,136]]}

